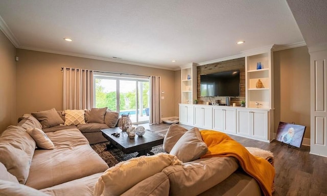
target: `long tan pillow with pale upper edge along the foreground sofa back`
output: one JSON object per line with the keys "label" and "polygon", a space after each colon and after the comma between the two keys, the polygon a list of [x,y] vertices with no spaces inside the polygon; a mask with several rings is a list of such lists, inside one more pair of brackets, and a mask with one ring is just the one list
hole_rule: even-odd
{"label": "long tan pillow with pale upper edge along the foreground sofa back", "polygon": [[107,169],[99,178],[94,195],[121,195],[138,182],[153,176],[169,165],[181,164],[173,155],[159,153],[123,161]]}

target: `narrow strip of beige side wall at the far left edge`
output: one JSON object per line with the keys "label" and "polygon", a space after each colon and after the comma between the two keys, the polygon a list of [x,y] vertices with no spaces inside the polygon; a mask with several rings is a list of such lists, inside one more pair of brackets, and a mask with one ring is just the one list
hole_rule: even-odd
{"label": "narrow strip of beige side wall at the far left edge", "polygon": [[0,133],[16,122],[16,48],[0,31]]}

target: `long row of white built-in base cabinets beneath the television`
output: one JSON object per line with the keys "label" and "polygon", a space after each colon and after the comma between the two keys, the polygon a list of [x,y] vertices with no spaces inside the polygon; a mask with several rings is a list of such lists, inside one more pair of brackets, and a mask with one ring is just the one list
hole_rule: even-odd
{"label": "long row of white built-in base cabinets beneath the television", "polygon": [[269,118],[271,110],[269,109],[200,104],[179,104],[179,108],[180,124],[265,142],[272,140],[272,124]]}

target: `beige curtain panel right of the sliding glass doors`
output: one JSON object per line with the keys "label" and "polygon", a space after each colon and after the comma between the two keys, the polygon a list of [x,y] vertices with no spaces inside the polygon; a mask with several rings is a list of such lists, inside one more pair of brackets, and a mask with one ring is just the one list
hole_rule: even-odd
{"label": "beige curtain panel right of the sliding glass doors", "polygon": [[149,124],[161,122],[160,77],[150,76],[150,120]]}

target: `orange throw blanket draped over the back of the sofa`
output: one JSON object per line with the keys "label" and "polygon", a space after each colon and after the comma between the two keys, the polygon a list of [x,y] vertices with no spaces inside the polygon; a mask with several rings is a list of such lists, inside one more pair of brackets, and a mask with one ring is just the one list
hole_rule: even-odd
{"label": "orange throw blanket draped over the back of the sofa", "polygon": [[200,133],[208,146],[208,152],[201,158],[237,158],[243,170],[258,182],[264,195],[272,195],[271,185],[275,177],[275,169],[268,161],[251,155],[243,145],[224,133],[211,130],[203,130]]}

